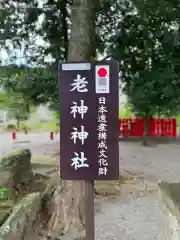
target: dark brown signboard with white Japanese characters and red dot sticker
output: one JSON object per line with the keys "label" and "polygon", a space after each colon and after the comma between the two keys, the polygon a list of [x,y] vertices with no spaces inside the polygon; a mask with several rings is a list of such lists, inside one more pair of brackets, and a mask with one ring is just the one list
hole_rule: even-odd
{"label": "dark brown signboard with white Japanese characters and red dot sticker", "polygon": [[118,64],[60,63],[60,176],[119,178]]}

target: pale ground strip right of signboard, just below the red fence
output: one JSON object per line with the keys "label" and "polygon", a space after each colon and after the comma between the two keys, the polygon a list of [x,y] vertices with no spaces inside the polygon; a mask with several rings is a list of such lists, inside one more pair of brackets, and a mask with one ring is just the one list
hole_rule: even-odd
{"label": "pale ground strip right of signboard, just below the red fence", "polygon": [[180,182],[180,142],[143,147],[119,142],[120,169],[150,175],[156,180]]}

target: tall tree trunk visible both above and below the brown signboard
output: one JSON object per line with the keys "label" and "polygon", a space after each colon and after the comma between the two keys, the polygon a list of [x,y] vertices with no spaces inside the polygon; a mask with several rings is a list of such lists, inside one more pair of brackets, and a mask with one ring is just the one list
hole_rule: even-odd
{"label": "tall tree trunk visible both above and below the brown signboard", "polygon": [[[95,1],[97,2],[97,0],[73,0],[68,61],[90,60],[94,53]],[[49,228],[55,231],[63,230],[65,233],[84,230],[85,183],[63,181],[59,176],[52,179],[52,182],[48,187],[50,193],[47,189],[44,195],[45,198],[48,196],[51,198]]]}

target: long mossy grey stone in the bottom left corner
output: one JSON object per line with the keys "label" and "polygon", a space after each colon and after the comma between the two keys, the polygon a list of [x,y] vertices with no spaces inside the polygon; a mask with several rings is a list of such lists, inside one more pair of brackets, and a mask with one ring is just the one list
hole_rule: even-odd
{"label": "long mossy grey stone in the bottom left corner", "polygon": [[41,193],[26,195],[13,208],[0,227],[0,240],[24,239],[26,229],[36,221],[42,208]]}

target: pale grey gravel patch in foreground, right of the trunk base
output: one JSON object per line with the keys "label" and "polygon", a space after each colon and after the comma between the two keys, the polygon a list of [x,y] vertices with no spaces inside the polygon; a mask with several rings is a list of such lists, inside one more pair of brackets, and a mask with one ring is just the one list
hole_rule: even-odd
{"label": "pale grey gravel patch in foreground, right of the trunk base", "polygon": [[169,240],[167,216],[154,196],[104,203],[96,215],[96,240]]}

